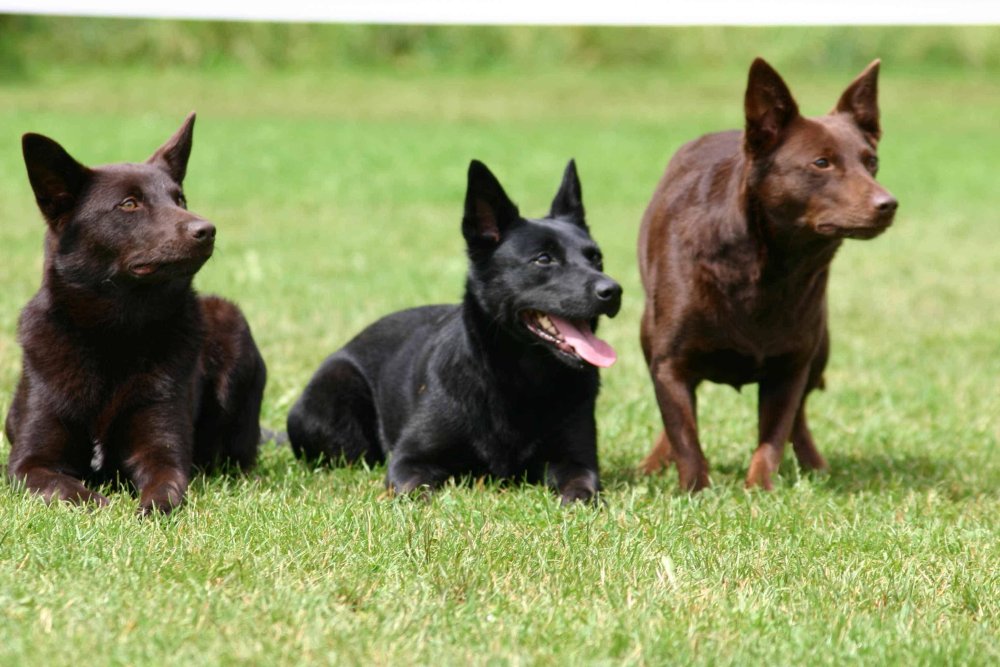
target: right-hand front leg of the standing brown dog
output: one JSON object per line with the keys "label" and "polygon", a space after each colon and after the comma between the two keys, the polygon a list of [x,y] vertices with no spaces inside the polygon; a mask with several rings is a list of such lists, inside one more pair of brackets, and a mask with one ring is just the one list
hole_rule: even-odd
{"label": "right-hand front leg of the standing brown dog", "polygon": [[809,377],[809,365],[802,364],[787,373],[765,377],[758,386],[757,428],[760,444],[750,460],[747,488],[773,488],[771,475],[778,470],[795,424],[795,416]]}

